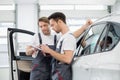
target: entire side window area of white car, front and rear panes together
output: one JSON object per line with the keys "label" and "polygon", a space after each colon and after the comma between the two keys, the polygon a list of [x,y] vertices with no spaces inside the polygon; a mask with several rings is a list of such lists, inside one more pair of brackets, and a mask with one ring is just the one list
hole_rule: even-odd
{"label": "entire side window area of white car, front and rear panes together", "polygon": [[120,24],[104,22],[93,25],[84,34],[76,53],[77,55],[89,55],[112,50],[120,40]]}

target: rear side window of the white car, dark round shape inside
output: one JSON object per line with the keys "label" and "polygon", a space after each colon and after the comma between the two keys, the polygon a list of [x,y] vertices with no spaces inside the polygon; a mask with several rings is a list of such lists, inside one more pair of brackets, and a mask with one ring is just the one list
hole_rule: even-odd
{"label": "rear side window of the white car, dark round shape inside", "polygon": [[120,39],[120,26],[118,24],[114,22],[108,23],[106,31],[100,37],[96,52],[110,51],[117,45]]}

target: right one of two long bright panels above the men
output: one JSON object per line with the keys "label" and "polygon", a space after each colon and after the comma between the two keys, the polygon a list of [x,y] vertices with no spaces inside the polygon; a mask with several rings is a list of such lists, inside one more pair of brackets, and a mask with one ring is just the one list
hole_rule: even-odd
{"label": "right one of two long bright panels above the men", "polygon": [[75,5],[76,10],[106,10],[104,5]]}

